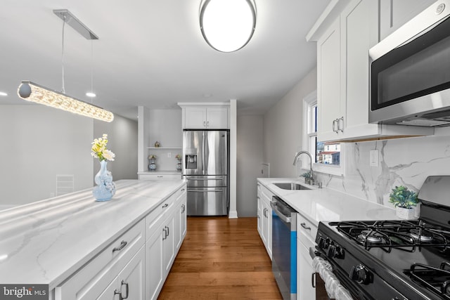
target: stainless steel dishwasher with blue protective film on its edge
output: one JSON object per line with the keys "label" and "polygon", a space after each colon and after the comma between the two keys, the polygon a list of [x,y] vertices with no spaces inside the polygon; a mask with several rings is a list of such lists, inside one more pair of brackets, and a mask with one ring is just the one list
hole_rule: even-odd
{"label": "stainless steel dishwasher with blue protective film on its edge", "polygon": [[284,300],[297,299],[297,211],[273,196],[272,272]]}

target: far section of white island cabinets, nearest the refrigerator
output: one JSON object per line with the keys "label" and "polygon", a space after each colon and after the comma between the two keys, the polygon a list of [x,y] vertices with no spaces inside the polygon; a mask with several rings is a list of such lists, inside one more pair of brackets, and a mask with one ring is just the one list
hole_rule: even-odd
{"label": "far section of white island cabinets, nearest the refrigerator", "polygon": [[146,217],[146,299],[157,299],[186,235],[186,188]]}

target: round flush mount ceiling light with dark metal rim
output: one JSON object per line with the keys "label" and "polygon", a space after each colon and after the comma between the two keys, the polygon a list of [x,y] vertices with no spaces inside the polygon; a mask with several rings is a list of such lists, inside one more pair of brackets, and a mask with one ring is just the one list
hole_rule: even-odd
{"label": "round flush mount ceiling light with dark metal rim", "polygon": [[205,41],[221,52],[243,48],[256,26],[253,0],[203,0],[200,3],[200,30]]}

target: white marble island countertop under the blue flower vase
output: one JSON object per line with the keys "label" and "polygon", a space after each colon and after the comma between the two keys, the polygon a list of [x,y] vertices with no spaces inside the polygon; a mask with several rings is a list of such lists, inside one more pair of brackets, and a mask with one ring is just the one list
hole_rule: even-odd
{"label": "white marble island countertop under the blue flower vase", "polygon": [[0,211],[1,284],[53,289],[178,190],[182,180],[116,181],[108,202],[92,189]]}

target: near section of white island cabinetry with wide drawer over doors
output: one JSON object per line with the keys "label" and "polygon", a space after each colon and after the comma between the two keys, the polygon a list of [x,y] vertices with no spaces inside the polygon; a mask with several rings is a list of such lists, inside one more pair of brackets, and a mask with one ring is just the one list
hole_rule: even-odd
{"label": "near section of white island cabinetry with wide drawer over doors", "polygon": [[[144,299],[145,223],[140,221],[106,247],[95,259],[56,287],[56,299]],[[129,298],[130,299],[130,298]]]}

